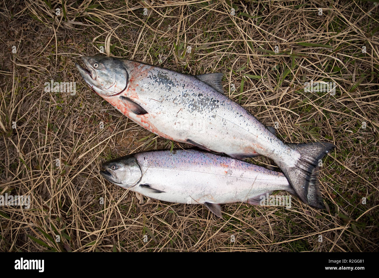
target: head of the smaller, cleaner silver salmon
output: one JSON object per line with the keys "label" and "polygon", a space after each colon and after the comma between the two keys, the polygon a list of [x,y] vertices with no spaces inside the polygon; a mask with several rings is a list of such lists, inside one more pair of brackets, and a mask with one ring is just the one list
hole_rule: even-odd
{"label": "head of the smaller, cleaner silver salmon", "polygon": [[100,175],[123,188],[136,185],[142,177],[141,168],[132,155],[104,162],[102,167],[105,171],[100,171]]}

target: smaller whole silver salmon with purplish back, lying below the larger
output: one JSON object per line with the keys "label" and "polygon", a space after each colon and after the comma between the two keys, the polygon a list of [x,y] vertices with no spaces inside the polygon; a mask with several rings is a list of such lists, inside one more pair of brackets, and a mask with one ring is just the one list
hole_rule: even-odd
{"label": "smaller whole silver salmon with purplish back, lying below the larger", "polygon": [[202,204],[221,218],[220,204],[259,205],[275,190],[296,194],[280,172],[195,149],[141,152],[102,166],[100,174],[122,188],[164,202]]}

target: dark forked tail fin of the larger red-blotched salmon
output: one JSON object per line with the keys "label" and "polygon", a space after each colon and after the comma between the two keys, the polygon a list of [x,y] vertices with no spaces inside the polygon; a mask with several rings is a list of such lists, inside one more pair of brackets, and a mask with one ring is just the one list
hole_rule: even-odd
{"label": "dark forked tail fin of the larger red-blotched salmon", "polygon": [[300,158],[294,167],[282,168],[288,182],[305,203],[312,207],[325,208],[318,187],[318,164],[320,159],[335,148],[334,144],[316,142],[287,145],[300,153]]}

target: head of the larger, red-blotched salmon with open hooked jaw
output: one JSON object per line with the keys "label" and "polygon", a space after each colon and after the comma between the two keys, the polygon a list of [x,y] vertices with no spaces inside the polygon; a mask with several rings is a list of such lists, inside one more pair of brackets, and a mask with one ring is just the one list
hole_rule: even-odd
{"label": "head of the larger, red-blotched salmon with open hooked jaw", "polygon": [[85,82],[100,96],[118,95],[128,85],[128,72],[120,59],[106,56],[82,56],[85,68],[75,63]]}

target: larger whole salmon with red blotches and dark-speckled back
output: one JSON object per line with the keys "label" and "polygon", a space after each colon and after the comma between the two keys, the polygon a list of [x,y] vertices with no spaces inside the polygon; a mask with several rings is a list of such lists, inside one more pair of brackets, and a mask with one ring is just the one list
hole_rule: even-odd
{"label": "larger whole salmon with red blotches and dark-speckled back", "polygon": [[324,207],[318,163],[335,146],[285,144],[222,93],[221,74],[186,75],[140,62],[82,57],[86,83],[135,123],[170,140],[244,159],[271,158],[299,197]]}

